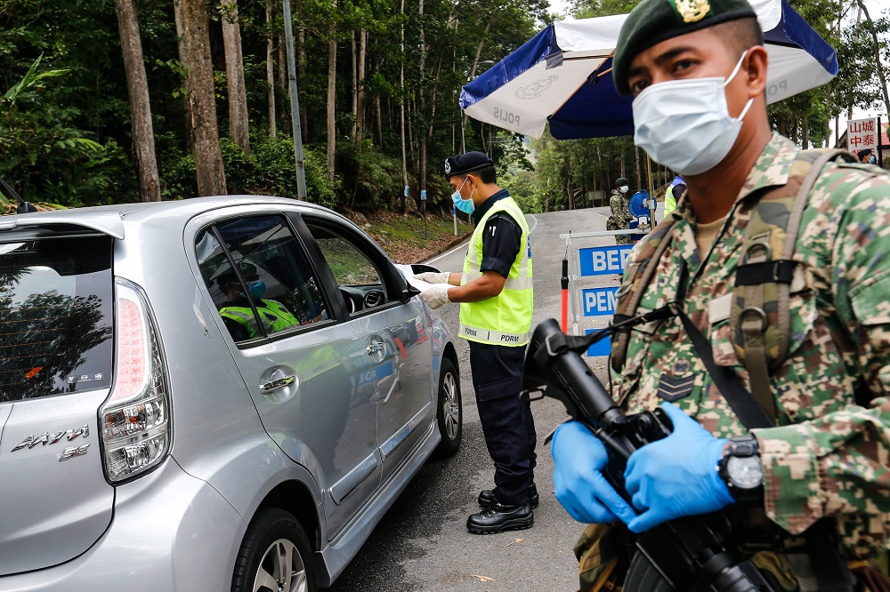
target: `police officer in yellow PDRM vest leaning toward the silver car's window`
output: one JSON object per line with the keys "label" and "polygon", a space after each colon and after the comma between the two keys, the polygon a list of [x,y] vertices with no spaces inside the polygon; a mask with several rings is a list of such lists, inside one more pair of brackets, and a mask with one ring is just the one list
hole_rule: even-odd
{"label": "police officer in yellow PDRM vest leaning toward the silver car's window", "polygon": [[534,297],[529,224],[506,189],[498,187],[494,163],[481,152],[451,156],[445,176],[461,212],[476,229],[463,273],[425,273],[433,286],[421,294],[430,308],[460,302],[458,334],[470,342],[470,370],[485,445],[495,463],[495,488],[479,493],[482,511],[466,520],[476,534],[530,528],[538,506],[534,483],[535,422],[522,401],[522,364],[529,342]]}

